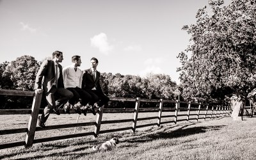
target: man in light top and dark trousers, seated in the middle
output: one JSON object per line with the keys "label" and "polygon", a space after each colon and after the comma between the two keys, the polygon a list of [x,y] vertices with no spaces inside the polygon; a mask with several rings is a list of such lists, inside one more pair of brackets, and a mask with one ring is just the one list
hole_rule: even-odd
{"label": "man in light top and dark trousers, seated in the middle", "polygon": [[86,115],[87,104],[92,99],[92,96],[88,92],[81,89],[83,72],[78,68],[81,66],[81,63],[81,56],[72,56],[72,65],[63,69],[64,86],[74,94],[74,96],[68,100],[67,104],[64,105],[65,112],[68,114],[70,114],[69,109],[74,106],[76,113],[81,115],[81,112],[83,112],[83,114]]}

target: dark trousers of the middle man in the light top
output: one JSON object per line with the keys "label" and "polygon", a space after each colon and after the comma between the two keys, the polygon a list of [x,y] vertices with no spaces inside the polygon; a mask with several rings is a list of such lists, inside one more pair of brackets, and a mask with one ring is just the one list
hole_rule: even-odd
{"label": "dark trousers of the middle man in the light top", "polygon": [[68,100],[68,102],[70,104],[72,104],[74,106],[74,104],[76,102],[79,101],[79,99],[81,99],[81,104],[83,106],[86,106],[86,104],[88,104],[88,102],[90,102],[90,100],[92,100],[92,95],[90,95],[88,92],[86,92],[85,90],[82,90],[79,87],[76,88],[67,88],[67,90],[69,90],[70,92],[73,93],[73,97],[71,99]]}

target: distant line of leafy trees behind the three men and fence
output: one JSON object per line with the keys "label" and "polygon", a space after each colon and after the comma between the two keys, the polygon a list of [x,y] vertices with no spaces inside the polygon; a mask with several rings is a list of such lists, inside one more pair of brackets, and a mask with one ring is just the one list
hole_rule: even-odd
{"label": "distant line of leafy trees behind the three men and fence", "polygon": [[[0,64],[0,89],[34,91],[35,77],[41,61],[32,56],[21,56],[15,61]],[[81,68],[83,70],[83,68]],[[147,77],[101,73],[102,90],[109,97],[141,97],[143,99],[177,98],[177,84],[164,74],[148,74]],[[31,108],[33,97],[17,97],[0,95],[0,109]],[[42,108],[46,105],[43,97]],[[129,102],[111,102],[109,107],[129,107]],[[141,104],[148,107],[150,104]],[[134,104],[132,104],[134,107]]]}

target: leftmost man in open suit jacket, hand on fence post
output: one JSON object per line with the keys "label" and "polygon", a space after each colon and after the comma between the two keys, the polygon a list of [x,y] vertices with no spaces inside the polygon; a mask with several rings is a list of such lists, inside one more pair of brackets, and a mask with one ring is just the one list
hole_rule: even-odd
{"label": "leftmost man in open suit jacket, hand on fence post", "polygon": [[57,108],[73,97],[73,93],[64,88],[62,66],[59,64],[62,60],[62,52],[53,52],[52,60],[43,61],[36,74],[35,90],[38,93],[44,92],[48,104],[42,116],[38,116],[38,125],[42,128],[51,111],[60,115]]}

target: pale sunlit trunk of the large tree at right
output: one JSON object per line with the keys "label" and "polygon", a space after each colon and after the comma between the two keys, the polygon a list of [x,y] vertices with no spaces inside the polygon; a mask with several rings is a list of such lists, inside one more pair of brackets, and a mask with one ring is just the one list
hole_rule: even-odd
{"label": "pale sunlit trunk of the large tree at right", "polygon": [[244,102],[235,100],[233,103],[233,111],[231,117],[233,120],[243,120]]}

